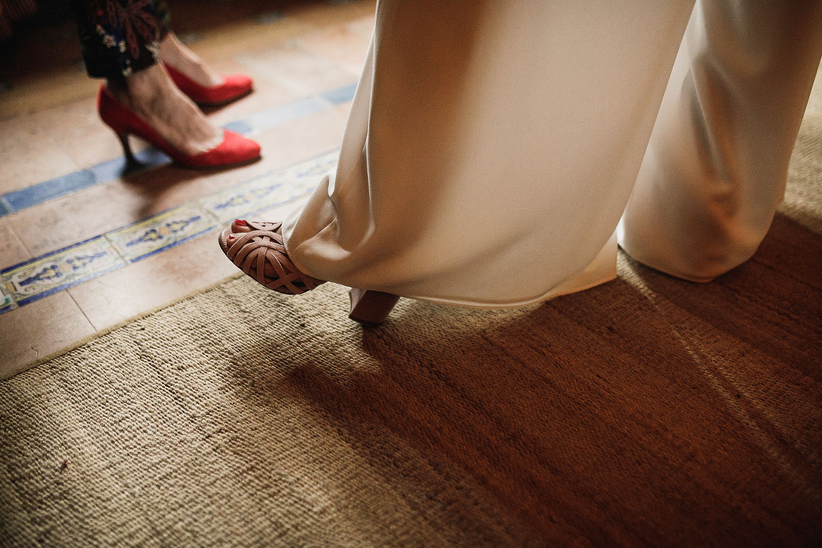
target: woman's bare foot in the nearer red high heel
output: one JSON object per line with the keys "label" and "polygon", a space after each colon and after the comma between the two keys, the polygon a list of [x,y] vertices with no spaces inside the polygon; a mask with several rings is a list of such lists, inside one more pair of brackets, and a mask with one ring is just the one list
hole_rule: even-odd
{"label": "woman's bare foot in the nearer red high heel", "polygon": [[110,80],[107,86],[115,99],[182,154],[200,154],[223,142],[223,131],[211,125],[159,64],[137,71],[124,81]]}

